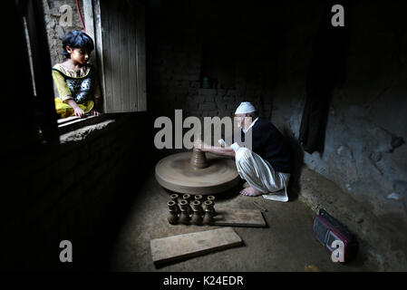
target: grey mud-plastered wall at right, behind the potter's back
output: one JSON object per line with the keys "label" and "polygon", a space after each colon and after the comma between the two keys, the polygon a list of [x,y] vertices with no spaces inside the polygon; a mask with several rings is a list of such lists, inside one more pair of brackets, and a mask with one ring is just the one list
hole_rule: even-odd
{"label": "grey mud-plastered wall at right, behind the potter's back", "polygon": [[[372,246],[377,248],[376,257],[383,265],[405,269],[407,248],[402,233],[407,230],[407,30],[401,13],[405,7],[399,2],[366,1],[351,7],[346,14],[350,27],[343,46],[344,67],[333,68],[343,70],[343,79],[335,84],[331,95],[325,148],[322,154],[305,152],[304,161],[377,218],[380,233],[364,225],[363,215],[358,227],[365,238],[377,235]],[[374,18],[383,21],[377,23]],[[288,32],[291,37],[286,47],[298,50],[288,49],[277,55],[277,69],[289,82],[276,84],[272,121],[296,140],[312,58],[312,43],[304,35],[316,29],[311,25],[293,28]],[[287,67],[296,67],[296,72],[287,71]],[[318,201],[322,205],[327,204],[330,192],[325,196]],[[336,207],[338,212],[347,210],[346,205]]]}

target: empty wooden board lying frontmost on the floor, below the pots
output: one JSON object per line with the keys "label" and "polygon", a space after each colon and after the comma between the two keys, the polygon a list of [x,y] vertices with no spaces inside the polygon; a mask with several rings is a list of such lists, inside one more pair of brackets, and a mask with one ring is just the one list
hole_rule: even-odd
{"label": "empty wooden board lying frontmost on the floor, below the pots", "polygon": [[156,266],[243,244],[231,227],[150,240]]}

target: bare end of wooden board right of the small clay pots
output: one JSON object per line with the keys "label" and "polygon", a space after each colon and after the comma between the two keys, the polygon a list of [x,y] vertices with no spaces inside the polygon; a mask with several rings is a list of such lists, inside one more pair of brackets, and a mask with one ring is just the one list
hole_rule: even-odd
{"label": "bare end of wooden board right of the small clay pots", "polygon": [[214,226],[230,227],[266,227],[265,218],[258,209],[228,208],[215,206],[218,215],[214,217]]}

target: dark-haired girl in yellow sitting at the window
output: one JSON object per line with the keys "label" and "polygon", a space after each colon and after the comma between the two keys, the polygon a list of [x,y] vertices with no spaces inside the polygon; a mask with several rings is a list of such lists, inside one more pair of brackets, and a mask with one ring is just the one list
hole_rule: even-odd
{"label": "dark-haired girl in yellow sitting at the window", "polygon": [[93,48],[92,38],[81,31],[73,30],[63,36],[63,55],[67,60],[53,66],[53,82],[59,93],[55,109],[61,118],[83,118],[88,112],[92,116],[101,114],[101,90],[94,67],[88,63]]}

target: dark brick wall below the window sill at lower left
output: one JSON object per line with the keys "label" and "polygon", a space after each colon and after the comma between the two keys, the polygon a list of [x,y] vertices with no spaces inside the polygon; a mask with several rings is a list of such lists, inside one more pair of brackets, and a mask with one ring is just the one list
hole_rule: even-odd
{"label": "dark brick wall below the window sill at lower left", "polygon": [[[5,162],[2,266],[77,269],[98,266],[95,258],[105,262],[107,248],[98,250],[117,228],[115,205],[136,193],[126,188],[142,174],[137,166],[145,155],[139,150],[146,148],[134,128],[143,116],[117,117],[97,130],[85,127],[62,135],[57,147],[21,152]],[[73,243],[72,264],[59,261],[64,239]]]}

